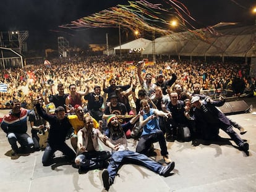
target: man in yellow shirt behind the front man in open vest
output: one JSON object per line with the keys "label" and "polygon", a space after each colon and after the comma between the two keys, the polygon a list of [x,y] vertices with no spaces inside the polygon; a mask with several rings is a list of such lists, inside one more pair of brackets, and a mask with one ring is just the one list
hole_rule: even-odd
{"label": "man in yellow shirt behind the front man in open vest", "polygon": [[[67,118],[69,119],[70,124],[74,128],[74,133],[72,133],[70,142],[72,144],[72,147],[75,151],[77,151],[77,132],[85,126],[85,123],[83,122],[83,119],[85,116],[88,116],[89,114],[84,114],[83,108],[80,105],[75,105],[75,115],[68,115]],[[99,128],[100,124],[93,119],[93,126],[95,128]]]}

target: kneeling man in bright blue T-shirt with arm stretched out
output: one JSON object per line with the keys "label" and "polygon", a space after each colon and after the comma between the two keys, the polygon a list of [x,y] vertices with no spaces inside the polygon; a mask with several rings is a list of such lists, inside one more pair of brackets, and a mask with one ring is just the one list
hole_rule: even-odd
{"label": "kneeling man in bright blue T-shirt with arm stretched out", "polygon": [[166,164],[171,163],[171,159],[168,157],[164,134],[159,127],[159,116],[168,119],[171,114],[150,108],[147,99],[142,99],[140,106],[143,109],[143,114],[140,116],[140,127],[143,127],[143,131],[137,144],[136,152],[148,154],[151,145],[158,142],[164,162],[166,162]]}

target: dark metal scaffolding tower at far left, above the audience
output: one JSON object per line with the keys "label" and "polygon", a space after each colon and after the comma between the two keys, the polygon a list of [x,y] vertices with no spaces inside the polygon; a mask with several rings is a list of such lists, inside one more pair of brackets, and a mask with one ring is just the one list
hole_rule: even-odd
{"label": "dark metal scaffolding tower at far left, above the audience", "polygon": [[20,54],[27,51],[28,31],[1,31],[0,46],[10,48]]}

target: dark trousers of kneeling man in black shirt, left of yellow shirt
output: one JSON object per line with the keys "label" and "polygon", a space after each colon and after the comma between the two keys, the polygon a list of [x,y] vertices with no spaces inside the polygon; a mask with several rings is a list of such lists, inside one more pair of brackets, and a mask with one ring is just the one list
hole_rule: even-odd
{"label": "dark trousers of kneeling man in black shirt, left of yellow shirt", "polygon": [[53,154],[55,151],[61,151],[64,155],[67,156],[67,159],[70,161],[74,161],[75,159],[75,152],[66,144],[58,144],[58,145],[49,145],[47,144],[45,148],[45,152],[43,153],[42,163],[43,166],[48,166],[52,163]]}

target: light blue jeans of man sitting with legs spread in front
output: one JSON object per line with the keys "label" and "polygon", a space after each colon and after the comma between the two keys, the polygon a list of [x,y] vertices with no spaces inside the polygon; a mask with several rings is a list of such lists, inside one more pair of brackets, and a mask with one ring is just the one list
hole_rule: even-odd
{"label": "light blue jeans of man sitting with legs spread in front", "polygon": [[160,173],[162,165],[157,162],[151,160],[144,154],[139,154],[134,151],[116,151],[111,156],[111,161],[108,165],[108,173],[111,181],[114,182],[114,178],[116,177],[116,173],[121,165],[123,164],[135,164],[141,165],[143,167],[147,167],[155,173]]}

